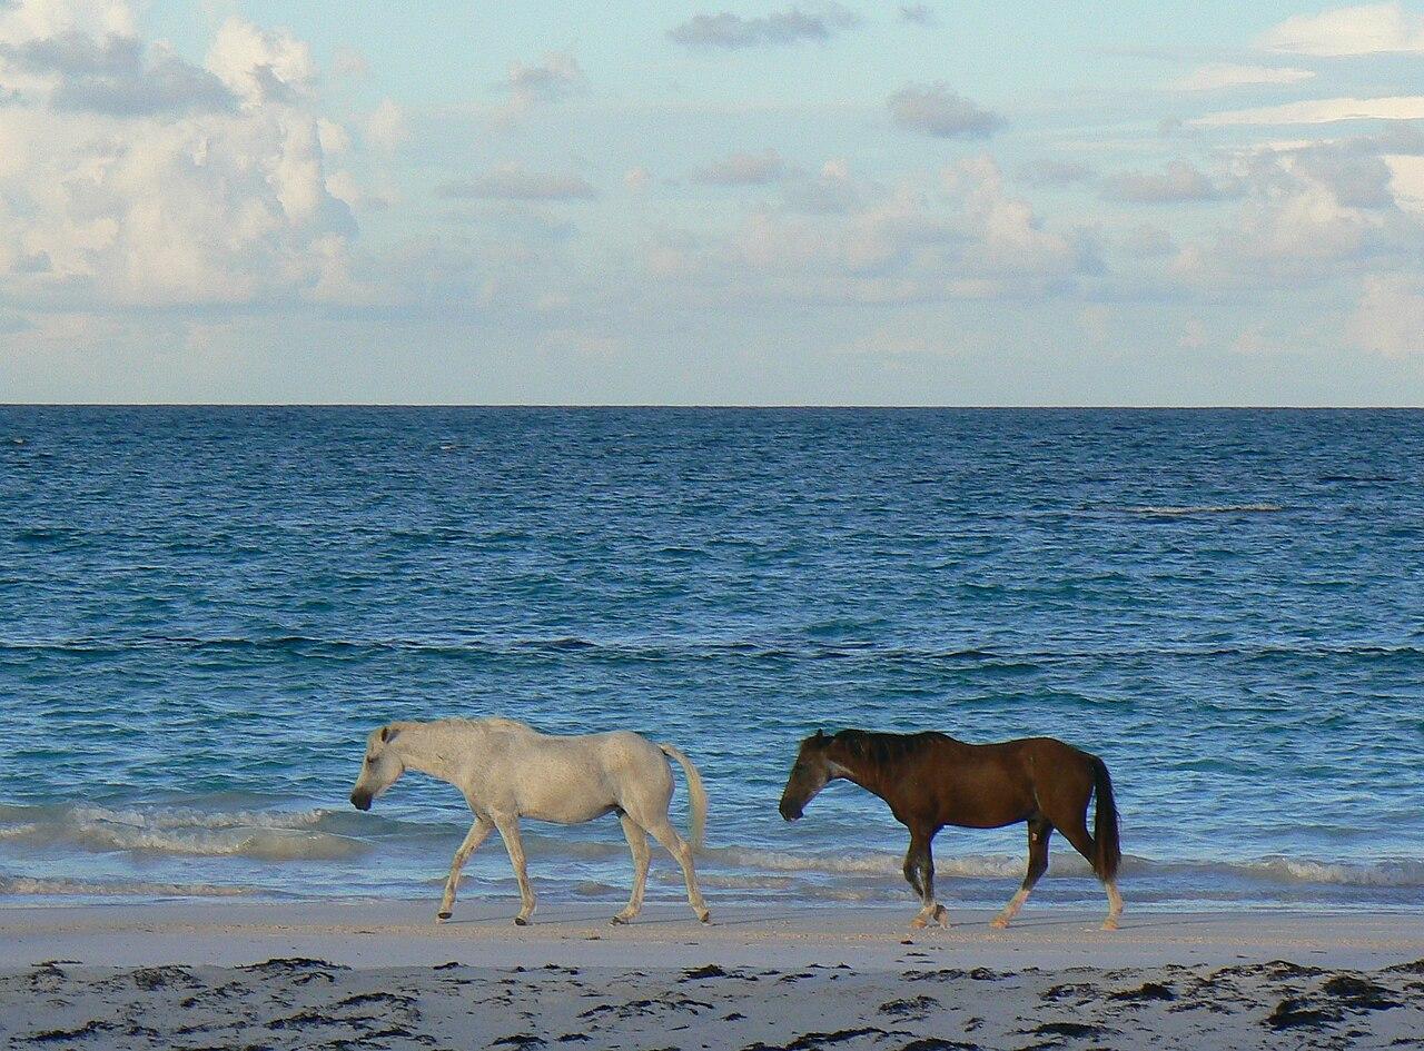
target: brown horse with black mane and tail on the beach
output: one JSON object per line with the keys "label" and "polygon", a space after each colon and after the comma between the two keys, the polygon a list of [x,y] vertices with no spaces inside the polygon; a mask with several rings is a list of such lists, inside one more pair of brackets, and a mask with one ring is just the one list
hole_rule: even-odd
{"label": "brown horse with black mane and tail on the beach", "polygon": [[[934,854],[930,843],[946,825],[998,829],[1028,822],[1028,873],[1024,884],[991,926],[1007,927],[1028,891],[1048,869],[1048,837],[1058,829],[1088,859],[1108,890],[1104,930],[1116,930],[1122,914],[1118,894],[1118,807],[1108,768],[1095,755],[1052,738],[1024,738],[1000,745],[965,745],[944,733],[867,733],[820,731],[806,738],[782,793],[782,817],[802,816],[817,792],[836,778],[860,785],[890,805],[910,829],[904,877],[924,907],[911,927],[931,920],[947,926],[944,906],[934,900]],[[1092,835],[1088,802],[1096,793]]]}

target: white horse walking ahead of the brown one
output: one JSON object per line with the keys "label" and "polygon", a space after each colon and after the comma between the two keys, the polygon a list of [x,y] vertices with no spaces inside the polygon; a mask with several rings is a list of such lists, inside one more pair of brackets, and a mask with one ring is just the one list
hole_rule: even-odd
{"label": "white horse walking ahead of the brown one", "polygon": [[649,860],[644,833],[651,833],[682,866],[688,903],[706,923],[709,913],[692,870],[692,847],[668,820],[672,769],[664,756],[676,759],[688,778],[689,835],[695,846],[702,846],[708,798],[698,768],[672,745],[654,745],[628,731],[554,736],[501,718],[392,722],[366,738],[366,760],[352,789],[352,805],[369,810],[372,800],[407,769],[447,780],[464,793],[476,822],[454,852],[440,920],[450,919],[460,870],[491,829],[500,830],[510,852],[523,901],[514,923],[523,927],[534,911],[534,891],[524,869],[520,817],[578,825],[617,813],[632,850],[634,877],[628,907],[612,921],[628,923],[642,909]]}

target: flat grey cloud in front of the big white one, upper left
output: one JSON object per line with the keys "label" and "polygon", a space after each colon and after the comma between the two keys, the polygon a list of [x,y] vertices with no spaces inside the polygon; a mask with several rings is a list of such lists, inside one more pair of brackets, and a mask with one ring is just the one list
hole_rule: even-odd
{"label": "flat grey cloud in front of the big white one, upper left", "polygon": [[[147,50],[147,54],[145,54]],[[137,37],[98,40],[78,30],[0,43],[0,67],[33,77],[56,110],[110,117],[229,110],[236,104],[208,70]]]}

